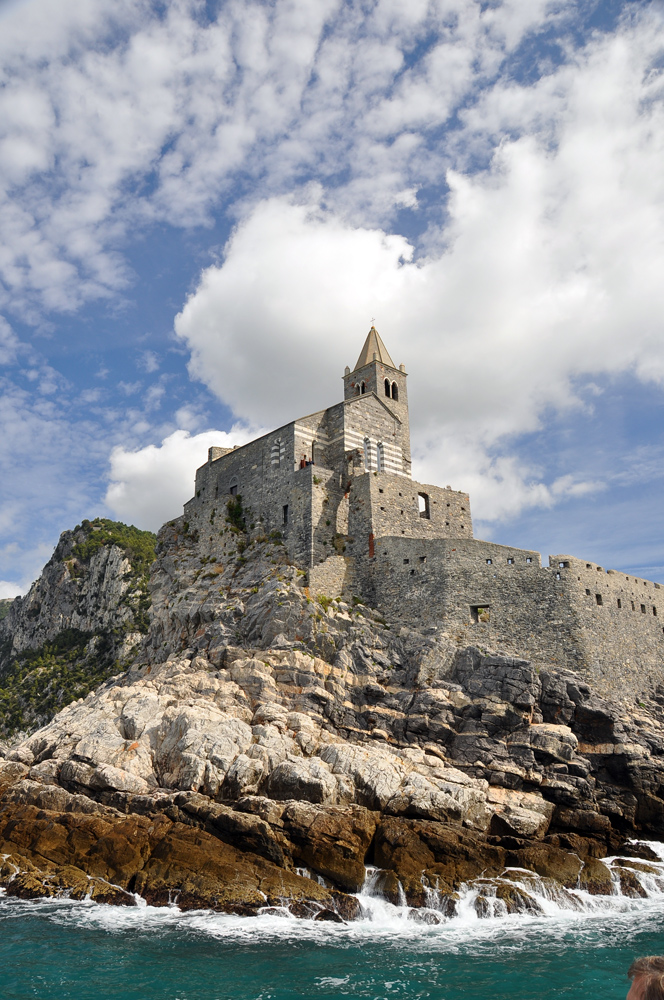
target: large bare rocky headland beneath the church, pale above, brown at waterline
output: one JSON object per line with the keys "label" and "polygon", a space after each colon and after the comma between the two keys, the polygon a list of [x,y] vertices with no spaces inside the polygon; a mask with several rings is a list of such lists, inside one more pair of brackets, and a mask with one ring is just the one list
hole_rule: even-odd
{"label": "large bare rocky headland beneath the church, pale above, brown at waterline", "polygon": [[205,536],[166,525],[150,587],[130,667],[0,761],[7,892],[341,920],[371,864],[431,920],[471,883],[480,915],[535,912],[515,869],[644,894],[661,692],[610,703],[572,672],[312,599],[235,508]]}

